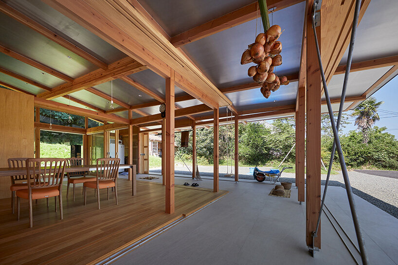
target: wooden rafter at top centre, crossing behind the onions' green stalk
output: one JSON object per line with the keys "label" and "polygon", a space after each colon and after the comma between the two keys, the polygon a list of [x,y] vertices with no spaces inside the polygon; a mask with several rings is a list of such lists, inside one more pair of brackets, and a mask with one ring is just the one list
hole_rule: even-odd
{"label": "wooden rafter at top centre, crossing behind the onions' green stalk", "polygon": [[[267,7],[269,9],[275,7],[275,10],[279,11],[301,1],[303,0],[268,0]],[[239,8],[219,18],[210,20],[179,35],[175,35],[171,37],[170,42],[175,47],[179,47],[209,35],[213,35],[217,32],[235,27],[258,17],[260,17],[260,12],[258,11],[258,2],[253,2],[252,4]]]}

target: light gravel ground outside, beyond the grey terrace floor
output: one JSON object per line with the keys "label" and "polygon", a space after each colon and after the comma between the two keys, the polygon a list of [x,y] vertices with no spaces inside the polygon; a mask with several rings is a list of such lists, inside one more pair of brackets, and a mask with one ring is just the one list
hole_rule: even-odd
{"label": "light gravel ground outside, beyond the grey terrace floor", "polygon": [[[268,170],[269,168],[260,167],[260,169]],[[192,168],[190,168],[190,170],[192,170]],[[151,169],[150,172],[160,173],[161,169],[154,168]],[[199,172],[201,176],[212,177],[213,166],[199,166]],[[219,166],[219,172],[220,177],[228,177],[225,176],[225,173],[227,172],[226,166]],[[229,172],[231,172],[230,167]],[[239,178],[253,179],[253,175],[249,173],[248,167],[239,167],[239,173],[242,173],[239,174]],[[176,165],[175,174],[190,175],[192,173],[190,173],[185,166]],[[383,174],[381,173],[380,175]],[[368,175],[357,171],[349,171],[348,176],[350,178],[354,194],[398,218],[398,178]],[[231,178],[234,178],[234,175]],[[326,175],[323,174],[321,179],[321,184],[325,185]],[[294,173],[283,173],[279,180],[294,183],[295,175]],[[345,188],[342,173],[340,172],[340,174],[331,175],[329,185]]]}

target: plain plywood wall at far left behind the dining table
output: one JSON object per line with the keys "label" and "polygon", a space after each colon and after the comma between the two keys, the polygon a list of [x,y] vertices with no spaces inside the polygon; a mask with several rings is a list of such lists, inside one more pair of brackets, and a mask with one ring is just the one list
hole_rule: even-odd
{"label": "plain plywood wall at far left behind the dining table", "polygon": [[[34,97],[0,89],[0,167],[7,159],[34,157]],[[10,177],[0,177],[0,198],[11,196]]]}

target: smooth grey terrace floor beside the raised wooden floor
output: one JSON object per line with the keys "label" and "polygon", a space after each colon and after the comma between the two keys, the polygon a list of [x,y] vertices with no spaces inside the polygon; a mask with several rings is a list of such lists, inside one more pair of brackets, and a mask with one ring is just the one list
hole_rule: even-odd
{"label": "smooth grey terrace floor beside the raised wooden floor", "polygon": [[[290,198],[280,198],[268,195],[273,185],[225,180],[220,181],[220,189],[229,194],[112,264],[355,264],[326,217],[321,226],[322,249],[314,258],[309,255],[305,242],[306,206],[297,202],[295,187]],[[162,182],[162,177],[148,181]],[[210,179],[176,177],[175,182],[213,187]],[[328,191],[327,207],[356,242],[345,190],[330,187]],[[371,264],[397,265],[398,220],[358,196],[355,200]]]}

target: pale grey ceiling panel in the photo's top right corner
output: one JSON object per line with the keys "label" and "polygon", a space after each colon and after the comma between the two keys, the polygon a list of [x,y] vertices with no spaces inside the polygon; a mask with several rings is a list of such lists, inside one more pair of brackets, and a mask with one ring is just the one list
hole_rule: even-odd
{"label": "pale grey ceiling panel in the photo's top right corner", "polygon": [[[353,62],[398,54],[397,0],[371,0],[358,26]],[[340,64],[347,62],[348,48]]]}

